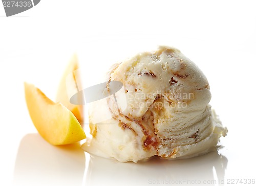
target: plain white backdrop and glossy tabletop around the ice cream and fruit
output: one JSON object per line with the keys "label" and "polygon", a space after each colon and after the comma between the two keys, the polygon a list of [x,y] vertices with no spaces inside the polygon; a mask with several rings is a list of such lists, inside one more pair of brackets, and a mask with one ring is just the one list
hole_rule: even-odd
{"label": "plain white backdrop and glossy tabletop around the ice cream and fruit", "polygon": [[[1,6],[0,184],[113,185],[119,177],[117,184],[152,185],[154,180],[184,178],[189,171],[225,182],[255,179],[255,5],[254,1],[42,0],[11,17]],[[89,87],[103,82],[113,63],[161,44],[180,49],[206,75],[210,104],[229,130],[221,138],[223,156],[123,164],[90,159],[88,154],[84,159],[78,149],[48,146],[34,134],[24,81],[54,100],[73,53],[80,60],[84,87]],[[174,169],[178,173],[173,174]],[[72,180],[77,182],[70,184]]]}

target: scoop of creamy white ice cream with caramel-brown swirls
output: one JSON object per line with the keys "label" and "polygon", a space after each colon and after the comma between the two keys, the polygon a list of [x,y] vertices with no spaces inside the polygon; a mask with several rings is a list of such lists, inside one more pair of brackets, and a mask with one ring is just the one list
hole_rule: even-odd
{"label": "scoop of creamy white ice cream with caramel-brown swirls", "polygon": [[123,83],[125,99],[115,94],[90,106],[92,139],[82,145],[89,153],[134,162],[188,158],[216,150],[227,133],[208,104],[206,77],[175,48],[161,46],[113,65],[112,80]]}

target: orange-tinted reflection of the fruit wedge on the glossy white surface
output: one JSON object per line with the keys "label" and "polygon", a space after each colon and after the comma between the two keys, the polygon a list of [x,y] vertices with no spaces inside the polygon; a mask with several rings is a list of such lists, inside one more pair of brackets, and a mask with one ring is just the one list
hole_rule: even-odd
{"label": "orange-tinted reflection of the fruit wedge on the glossy white surface", "polygon": [[14,185],[82,185],[86,165],[79,144],[52,146],[39,134],[27,134],[20,142]]}

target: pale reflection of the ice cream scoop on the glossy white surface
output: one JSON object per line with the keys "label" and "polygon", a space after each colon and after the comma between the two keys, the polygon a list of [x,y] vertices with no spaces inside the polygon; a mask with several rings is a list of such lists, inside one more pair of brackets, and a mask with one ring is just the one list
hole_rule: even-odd
{"label": "pale reflection of the ice cream scoop on the glossy white surface", "polygon": [[118,162],[91,156],[86,185],[221,185],[227,158],[217,152],[179,160]]}

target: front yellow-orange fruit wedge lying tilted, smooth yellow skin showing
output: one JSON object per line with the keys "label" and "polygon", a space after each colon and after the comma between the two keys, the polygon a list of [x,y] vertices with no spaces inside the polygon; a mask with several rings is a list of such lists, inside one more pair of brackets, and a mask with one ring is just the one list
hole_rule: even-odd
{"label": "front yellow-orange fruit wedge lying tilted, smooth yellow skin showing", "polygon": [[75,115],[61,103],[54,103],[28,83],[25,83],[25,97],[32,122],[47,142],[66,145],[86,138]]}

